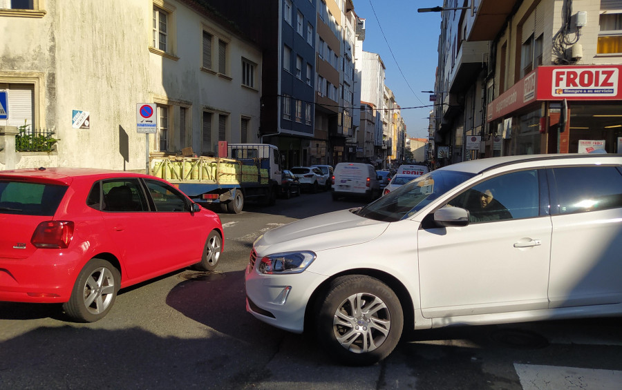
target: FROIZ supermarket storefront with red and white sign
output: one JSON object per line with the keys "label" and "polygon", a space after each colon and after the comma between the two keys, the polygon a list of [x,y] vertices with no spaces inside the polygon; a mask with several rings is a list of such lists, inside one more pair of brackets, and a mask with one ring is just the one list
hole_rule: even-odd
{"label": "FROIZ supermarket storefront with red and white sign", "polygon": [[[620,65],[536,68],[489,104],[487,157],[587,153],[594,148],[619,153],[621,69]],[[492,153],[497,150],[500,153]]]}

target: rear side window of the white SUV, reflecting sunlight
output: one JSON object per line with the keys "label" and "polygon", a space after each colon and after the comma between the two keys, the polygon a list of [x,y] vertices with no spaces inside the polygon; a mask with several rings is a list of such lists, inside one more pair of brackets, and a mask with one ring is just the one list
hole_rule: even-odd
{"label": "rear side window of the white SUV, reflecting sunlight", "polygon": [[[557,187],[553,191],[557,202],[551,202],[553,213],[585,213],[622,207],[622,175],[616,167],[577,166],[552,168],[552,171]],[[577,177],[581,177],[585,185],[577,186]]]}

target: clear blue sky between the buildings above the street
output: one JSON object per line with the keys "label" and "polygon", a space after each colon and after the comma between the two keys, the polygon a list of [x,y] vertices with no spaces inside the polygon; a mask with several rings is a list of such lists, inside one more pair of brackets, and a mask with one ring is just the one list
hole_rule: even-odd
{"label": "clear blue sky between the buildings above the street", "polygon": [[[363,50],[380,55],[386,66],[385,84],[402,107],[408,137],[427,138],[430,94],[438,64],[440,12],[417,8],[442,6],[441,0],[352,0],[365,19]],[[425,108],[409,108],[422,107]]]}

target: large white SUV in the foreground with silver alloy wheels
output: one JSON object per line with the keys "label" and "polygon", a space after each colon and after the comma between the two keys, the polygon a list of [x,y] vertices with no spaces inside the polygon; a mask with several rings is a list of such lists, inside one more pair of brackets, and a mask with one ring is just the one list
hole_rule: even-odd
{"label": "large white SUV in the foreground with silver alloy wheels", "polygon": [[622,315],[621,253],[621,155],[475,159],[267,231],[246,309],[372,364],[404,329]]}

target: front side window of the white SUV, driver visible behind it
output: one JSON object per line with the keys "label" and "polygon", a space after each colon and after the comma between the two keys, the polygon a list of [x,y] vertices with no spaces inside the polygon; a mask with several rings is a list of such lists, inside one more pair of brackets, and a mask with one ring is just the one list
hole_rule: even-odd
{"label": "front side window of the white SUV, driver visible behind it", "polygon": [[472,223],[516,220],[539,215],[539,194],[538,171],[522,170],[476,184],[449,204],[466,208]]}

